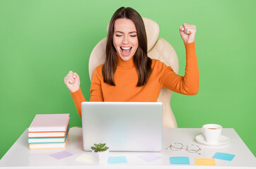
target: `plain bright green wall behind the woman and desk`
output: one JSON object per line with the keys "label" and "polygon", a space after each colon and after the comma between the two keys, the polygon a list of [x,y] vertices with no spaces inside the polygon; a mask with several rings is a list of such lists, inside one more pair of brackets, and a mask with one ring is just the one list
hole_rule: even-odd
{"label": "plain bright green wall behind the woman and desk", "polygon": [[179,26],[197,25],[199,93],[173,94],[178,127],[234,128],[255,155],[256,1],[0,0],[0,158],[35,114],[70,113],[71,127],[81,126],[64,77],[78,73],[90,99],[88,59],[120,6],[158,23],[159,37],[178,54],[180,75],[185,47]]}

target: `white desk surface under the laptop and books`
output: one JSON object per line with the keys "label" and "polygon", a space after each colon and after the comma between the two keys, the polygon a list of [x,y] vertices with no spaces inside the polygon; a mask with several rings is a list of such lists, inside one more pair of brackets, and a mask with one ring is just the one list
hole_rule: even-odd
{"label": "white desk surface under the laptop and books", "polygon": [[[75,161],[81,154],[91,154],[83,151],[81,128],[71,128],[66,149],[30,150],[28,149],[28,130],[25,130],[11,149],[1,158],[0,168],[256,168],[256,158],[243,143],[235,130],[223,129],[222,134],[230,142],[221,146],[206,146],[197,142],[194,137],[201,134],[200,129],[178,128],[163,130],[163,151],[155,153],[161,156],[156,161],[146,162],[138,156],[147,152],[110,152],[110,156],[126,156],[128,163],[124,164],[96,164]],[[191,154],[187,151],[171,151],[166,148],[174,142],[182,144],[197,144],[202,149],[201,155]],[[68,151],[74,156],[57,160],[49,156],[59,151]],[[233,161],[216,159],[216,166],[195,165],[194,158],[211,158],[216,152],[234,154]],[[171,165],[169,158],[172,156],[189,156],[190,165]]]}

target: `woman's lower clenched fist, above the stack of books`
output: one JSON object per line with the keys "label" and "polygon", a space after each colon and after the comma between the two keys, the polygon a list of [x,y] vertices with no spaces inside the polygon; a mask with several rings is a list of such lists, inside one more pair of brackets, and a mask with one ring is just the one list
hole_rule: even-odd
{"label": "woman's lower clenched fist, above the stack of books", "polygon": [[76,92],[80,87],[79,76],[77,75],[77,73],[69,71],[69,73],[64,78],[64,83],[66,84],[66,87],[68,87],[70,92]]}

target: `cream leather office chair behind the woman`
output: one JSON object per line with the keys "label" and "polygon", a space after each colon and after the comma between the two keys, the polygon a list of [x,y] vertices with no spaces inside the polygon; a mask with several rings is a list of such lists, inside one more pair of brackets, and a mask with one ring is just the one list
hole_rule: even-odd
{"label": "cream leather office chair behind the woman", "polygon": [[[178,56],[171,46],[165,39],[158,39],[159,26],[153,20],[149,18],[143,18],[144,25],[146,28],[146,36],[148,41],[148,56],[150,58],[156,58],[159,61],[165,63],[165,65],[170,65],[175,73],[178,74],[179,63]],[[107,26],[108,29],[108,26]],[[107,38],[102,39],[94,47],[91,52],[89,59],[89,75],[90,79],[93,75],[94,69],[105,62],[105,47],[107,44]],[[175,128],[177,123],[173,115],[173,111],[170,108],[170,99],[173,92],[169,89],[162,88],[158,96],[158,102],[163,103],[163,127]]]}

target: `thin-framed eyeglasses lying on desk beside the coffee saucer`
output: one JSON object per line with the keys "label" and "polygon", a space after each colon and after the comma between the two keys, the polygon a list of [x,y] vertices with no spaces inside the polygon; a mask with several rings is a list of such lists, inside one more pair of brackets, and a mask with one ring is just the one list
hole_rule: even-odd
{"label": "thin-framed eyeglasses lying on desk beside the coffee saucer", "polygon": [[[168,149],[168,148],[167,148]],[[199,153],[199,151],[201,150],[199,146],[197,146],[196,144],[190,144],[190,145],[183,145],[181,143],[173,143],[170,144],[170,148],[173,151],[182,151],[182,150],[186,150],[190,153]]]}

